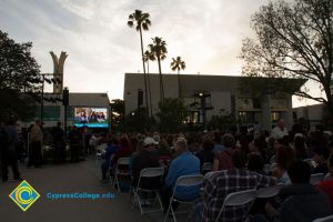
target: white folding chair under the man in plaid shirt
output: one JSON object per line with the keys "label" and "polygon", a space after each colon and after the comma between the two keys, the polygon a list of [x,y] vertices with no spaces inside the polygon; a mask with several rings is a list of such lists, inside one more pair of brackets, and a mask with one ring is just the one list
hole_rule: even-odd
{"label": "white folding chair under the man in plaid shirt", "polygon": [[[228,194],[223,201],[223,205],[215,219],[215,222],[219,221],[222,212],[225,210],[226,206],[238,206],[238,205],[249,204],[249,210],[248,210],[249,213],[250,208],[252,205],[251,203],[255,200],[256,194],[258,194],[256,190],[245,190],[245,191],[239,191],[239,192]],[[244,215],[244,218],[245,216],[248,216],[248,214]]]}

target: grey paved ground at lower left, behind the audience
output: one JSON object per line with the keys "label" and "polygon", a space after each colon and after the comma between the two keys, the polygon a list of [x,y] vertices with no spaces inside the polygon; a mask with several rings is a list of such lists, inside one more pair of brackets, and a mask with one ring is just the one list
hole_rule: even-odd
{"label": "grey paved ground at lower left, behind the audience", "polygon": [[[19,182],[0,182],[1,222],[155,222],[164,219],[161,212],[141,215],[138,208],[132,209],[128,193],[119,193],[111,184],[101,183],[99,165],[94,159],[63,165],[47,164],[40,169],[27,169],[26,165],[20,165],[20,171],[22,178],[41,194],[41,198],[23,212],[8,196]],[[111,192],[114,199],[50,200],[47,198],[48,192]],[[181,215],[180,221],[189,221],[189,219],[186,215]]]}

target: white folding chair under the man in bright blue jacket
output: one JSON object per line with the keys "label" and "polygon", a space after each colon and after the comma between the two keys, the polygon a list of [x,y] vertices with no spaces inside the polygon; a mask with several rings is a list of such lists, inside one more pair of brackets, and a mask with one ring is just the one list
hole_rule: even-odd
{"label": "white folding chair under the man in bright blue jacket", "polygon": [[[180,176],[176,180],[174,189],[173,189],[173,193],[170,198],[170,204],[169,204],[165,218],[164,218],[164,222],[167,221],[170,211],[171,211],[173,221],[176,222],[175,212],[172,209],[172,202],[173,201],[176,201],[176,202],[183,203],[183,204],[191,204],[193,206],[193,210],[194,210],[195,203],[201,200],[200,190],[198,191],[198,198],[195,198],[194,200],[190,200],[190,201],[179,200],[174,194],[175,194],[175,191],[176,191],[178,188],[180,188],[180,186],[181,188],[190,188],[190,186],[195,186],[195,185],[202,185],[203,180],[204,180],[204,178],[201,174],[183,175],[183,176]],[[188,212],[188,211],[183,211],[183,212]],[[183,213],[183,212],[178,212],[178,213]]]}

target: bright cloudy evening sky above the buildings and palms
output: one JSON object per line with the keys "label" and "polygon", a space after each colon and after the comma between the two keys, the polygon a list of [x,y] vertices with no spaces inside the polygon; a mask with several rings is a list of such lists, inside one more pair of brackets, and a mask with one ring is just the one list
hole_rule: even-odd
{"label": "bright cloudy evening sky above the buildings and palms", "polygon": [[[17,42],[33,42],[41,72],[53,72],[50,51],[65,51],[64,87],[70,92],[108,92],[123,98],[124,73],[142,72],[140,36],[127,26],[135,9],[149,12],[143,32],[167,42],[163,73],[172,58],[186,63],[183,74],[241,75],[242,40],[253,37],[250,21],[269,0],[1,0],[0,29]],[[150,63],[158,72],[158,63]],[[51,85],[47,91],[51,91]],[[293,99],[293,105],[310,103]]]}

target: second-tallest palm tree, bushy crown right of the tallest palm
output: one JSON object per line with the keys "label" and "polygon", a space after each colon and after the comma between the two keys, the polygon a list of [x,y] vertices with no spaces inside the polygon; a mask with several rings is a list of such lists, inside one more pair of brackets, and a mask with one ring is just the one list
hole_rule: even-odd
{"label": "second-tallest palm tree, bushy crown right of the tallest palm", "polygon": [[164,88],[163,88],[163,79],[162,79],[162,70],[161,70],[161,60],[164,60],[167,58],[167,43],[162,38],[155,37],[152,38],[153,43],[149,44],[149,50],[151,52],[151,59],[158,60],[159,64],[159,73],[160,73],[160,101],[163,102],[164,100]]}

